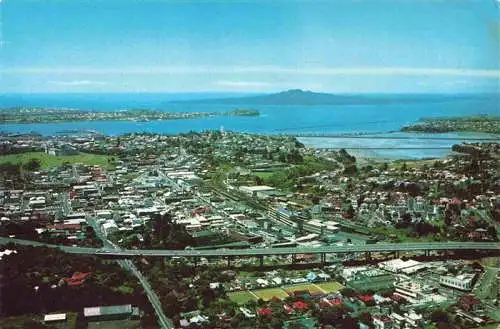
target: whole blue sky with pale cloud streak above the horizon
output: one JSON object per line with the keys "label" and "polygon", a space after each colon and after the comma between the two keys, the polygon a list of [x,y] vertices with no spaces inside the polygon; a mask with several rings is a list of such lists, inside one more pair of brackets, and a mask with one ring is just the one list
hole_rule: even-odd
{"label": "whole blue sky with pale cloud streak above the horizon", "polygon": [[0,0],[0,92],[495,92],[496,0]]}

